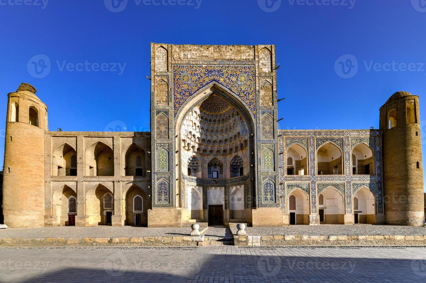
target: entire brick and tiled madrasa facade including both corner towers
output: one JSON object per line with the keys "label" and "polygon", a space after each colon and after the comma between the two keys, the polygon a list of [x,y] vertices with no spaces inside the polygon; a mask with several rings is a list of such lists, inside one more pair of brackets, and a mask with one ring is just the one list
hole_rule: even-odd
{"label": "entire brick and tiled madrasa facade including both corner towers", "polygon": [[151,43],[150,132],[49,131],[22,83],[5,224],[423,226],[419,97],[391,95],[380,129],[279,130],[276,69],[273,45]]}

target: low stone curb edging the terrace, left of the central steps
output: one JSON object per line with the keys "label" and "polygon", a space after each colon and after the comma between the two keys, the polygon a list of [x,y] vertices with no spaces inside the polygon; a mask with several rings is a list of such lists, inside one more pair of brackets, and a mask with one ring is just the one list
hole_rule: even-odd
{"label": "low stone curb edging the terrace, left of the central steps", "polygon": [[203,246],[204,236],[112,238],[0,238],[0,247],[20,246]]}

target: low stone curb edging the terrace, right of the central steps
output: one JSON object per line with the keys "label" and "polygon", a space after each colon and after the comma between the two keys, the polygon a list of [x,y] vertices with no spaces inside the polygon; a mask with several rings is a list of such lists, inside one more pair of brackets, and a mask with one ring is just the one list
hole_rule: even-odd
{"label": "low stone curb edging the terrace, right of the central steps", "polygon": [[425,246],[423,235],[237,236],[234,246]]}

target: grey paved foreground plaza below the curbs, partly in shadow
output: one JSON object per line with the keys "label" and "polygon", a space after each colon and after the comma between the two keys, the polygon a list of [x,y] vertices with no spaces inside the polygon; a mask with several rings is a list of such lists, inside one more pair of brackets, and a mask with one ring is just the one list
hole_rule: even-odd
{"label": "grey paved foreground plaza below the curbs, partly in shadow", "polygon": [[3,248],[0,254],[0,282],[426,281],[426,248]]}

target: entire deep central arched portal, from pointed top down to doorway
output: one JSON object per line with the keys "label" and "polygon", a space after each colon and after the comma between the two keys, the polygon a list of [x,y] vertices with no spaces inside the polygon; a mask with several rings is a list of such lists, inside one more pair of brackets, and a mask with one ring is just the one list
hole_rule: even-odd
{"label": "entire deep central arched portal, from pointed top down to doorway", "polygon": [[[234,218],[246,221],[246,209],[255,205],[250,201],[255,195],[252,190],[254,168],[250,164],[256,164],[252,160],[255,158],[253,119],[246,106],[233,94],[213,85],[184,106],[176,119],[176,133],[176,160],[180,164],[176,166],[176,176],[193,177],[176,182],[176,194],[181,196],[178,203],[187,209],[187,213],[182,214],[187,215],[187,219],[182,221],[202,219],[224,223]],[[194,179],[199,194],[194,194]],[[216,185],[220,183],[227,186]],[[235,186],[239,194],[232,197],[238,207],[231,208],[230,188]],[[221,199],[217,199],[218,194],[213,192],[222,190]],[[193,205],[196,195],[199,199],[207,197],[203,200],[204,206]]]}

